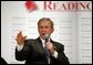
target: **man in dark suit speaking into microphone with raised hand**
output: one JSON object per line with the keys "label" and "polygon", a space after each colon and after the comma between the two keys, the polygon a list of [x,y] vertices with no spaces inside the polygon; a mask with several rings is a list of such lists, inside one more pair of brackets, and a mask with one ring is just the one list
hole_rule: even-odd
{"label": "man in dark suit speaking into microphone with raised hand", "polygon": [[35,40],[25,40],[27,36],[23,36],[22,32],[18,33],[16,58],[25,61],[25,64],[70,64],[64,54],[64,45],[50,37],[54,31],[53,22],[49,18],[40,19],[38,31],[40,36]]}

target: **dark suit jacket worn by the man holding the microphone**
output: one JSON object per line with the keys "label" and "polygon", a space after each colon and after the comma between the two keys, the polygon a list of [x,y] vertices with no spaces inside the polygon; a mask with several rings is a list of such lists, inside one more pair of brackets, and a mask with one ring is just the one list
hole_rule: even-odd
{"label": "dark suit jacket worn by the man holding the microphone", "polygon": [[[55,51],[59,54],[58,58],[50,55],[50,63],[70,64],[69,58],[64,54],[64,45],[54,41],[51,41],[51,43],[53,43]],[[24,46],[21,51],[18,52],[16,48],[16,59],[25,61],[25,64],[46,64],[46,54],[44,53],[41,40],[39,37],[37,40],[25,40]]]}

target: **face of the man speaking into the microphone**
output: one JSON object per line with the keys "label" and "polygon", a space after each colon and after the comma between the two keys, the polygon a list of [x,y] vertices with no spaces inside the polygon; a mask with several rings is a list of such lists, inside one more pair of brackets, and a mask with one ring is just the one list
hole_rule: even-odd
{"label": "face of the man speaking into the microphone", "polygon": [[41,21],[38,26],[40,37],[44,39],[45,34],[51,34],[53,32],[53,28],[51,28],[50,21]]}

